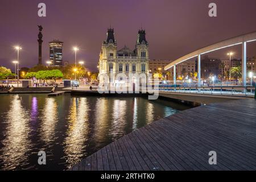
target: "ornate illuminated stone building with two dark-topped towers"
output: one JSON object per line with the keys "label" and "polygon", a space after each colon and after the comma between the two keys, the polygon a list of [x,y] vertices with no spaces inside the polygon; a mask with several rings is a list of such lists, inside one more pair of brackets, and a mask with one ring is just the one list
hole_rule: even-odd
{"label": "ornate illuminated stone building with two dark-topped towers", "polygon": [[146,73],[148,74],[148,42],[144,30],[138,31],[135,49],[128,47],[117,50],[117,42],[114,38],[114,29],[108,28],[107,39],[102,43],[100,60],[98,64],[99,74],[110,73]]}

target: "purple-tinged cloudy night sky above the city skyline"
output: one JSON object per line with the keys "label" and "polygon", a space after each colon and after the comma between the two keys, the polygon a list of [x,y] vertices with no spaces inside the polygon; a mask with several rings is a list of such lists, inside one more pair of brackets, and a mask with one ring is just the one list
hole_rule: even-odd
{"label": "purple-tinged cloudy night sky above the city skyline", "polygon": [[[47,6],[46,18],[38,17],[38,3]],[[208,16],[210,2],[217,4],[217,18]],[[115,31],[118,49],[134,49],[138,29],[146,29],[150,59],[175,60],[195,49],[224,39],[256,31],[256,0],[1,0],[0,65],[13,68],[15,45],[22,46],[20,67],[38,63],[38,24],[43,26],[43,63],[49,60],[48,42],[64,42],[63,60],[77,60],[97,71],[107,28]],[[226,52],[241,57],[241,46],[226,48],[210,56],[228,59]],[[256,43],[248,56],[256,56]]]}

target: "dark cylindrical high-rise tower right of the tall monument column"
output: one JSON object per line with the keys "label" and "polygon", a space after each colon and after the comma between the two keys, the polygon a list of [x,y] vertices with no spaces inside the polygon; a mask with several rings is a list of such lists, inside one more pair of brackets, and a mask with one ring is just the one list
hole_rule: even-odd
{"label": "dark cylindrical high-rise tower right of the tall monument column", "polygon": [[53,40],[49,42],[49,59],[52,62],[52,66],[63,65],[63,54],[62,54],[63,42],[59,40]]}

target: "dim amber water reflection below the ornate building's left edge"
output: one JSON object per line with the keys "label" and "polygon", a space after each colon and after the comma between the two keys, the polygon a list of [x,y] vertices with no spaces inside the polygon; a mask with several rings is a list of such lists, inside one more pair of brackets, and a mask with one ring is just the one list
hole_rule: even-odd
{"label": "dim amber water reflection below the ornate building's left edge", "polygon": [[[96,109],[95,109],[95,129],[94,129],[94,138],[96,141],[102,142],[106,140],[109,133],[109,106],[110,100],[107,98],[97,98]],[[96,143],[96,147],[98,143]]]}

